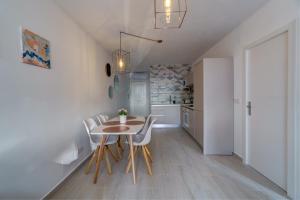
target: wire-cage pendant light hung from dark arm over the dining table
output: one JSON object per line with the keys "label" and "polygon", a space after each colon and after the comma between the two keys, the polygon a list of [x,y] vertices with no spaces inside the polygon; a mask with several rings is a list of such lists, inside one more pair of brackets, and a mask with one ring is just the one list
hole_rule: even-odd
{"label": "wire-cage pendant light hung from dark arm over the dining table", "polygon": [[120,32],[120,49],[117,49],[113,52],[112,58],[113,58],[113,66],[115,68],[114,72],[116,74],[119,73],[127,73],[130,72],[130,52],[125,51],[122,49],[122,35],[127,35],[143,40],[148,40],[151,42],[157,42],[157,43],[162,43],[162,40],[154,40],[146,37],[142,37],[139,35],[131,34],[131,33],[126,33],[121,31]]}

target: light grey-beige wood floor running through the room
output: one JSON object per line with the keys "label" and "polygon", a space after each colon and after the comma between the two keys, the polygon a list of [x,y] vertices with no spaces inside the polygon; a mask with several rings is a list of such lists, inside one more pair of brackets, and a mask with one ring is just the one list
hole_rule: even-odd
{"label": "light grey-beige wood floor running through the room", "polygon": [[[102,165],[97,184],[85,163],[49,198],[52,199],[286,199],[284,191],[234,156],[203,156],[182,129],[154,129],[150,145],[153,176],[137,157],[137,184],[125,174],[126,160]],[[128,151],[128,150],[127,150]],[[127,151],[125,152],[127,158]]]}

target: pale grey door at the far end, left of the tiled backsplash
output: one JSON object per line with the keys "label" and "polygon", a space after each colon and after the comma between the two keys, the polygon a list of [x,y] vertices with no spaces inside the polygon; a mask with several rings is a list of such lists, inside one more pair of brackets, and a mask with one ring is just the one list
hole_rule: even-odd
{"label": "pale grey door at the far end, left of the tiled backsplash", "polygon": [[130,114],[147,116],[147,83],[142,81],[131,82],[130,88]]}

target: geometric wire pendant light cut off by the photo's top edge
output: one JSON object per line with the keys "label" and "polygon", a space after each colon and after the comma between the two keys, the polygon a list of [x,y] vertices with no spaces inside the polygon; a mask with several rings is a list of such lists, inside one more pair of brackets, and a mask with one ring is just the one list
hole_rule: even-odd
{"label": "geometric wire pendant light cut off by the photo's top edge", "polygon": [[180,28],[187,12],[186,0],[154,0],[155,28]]}

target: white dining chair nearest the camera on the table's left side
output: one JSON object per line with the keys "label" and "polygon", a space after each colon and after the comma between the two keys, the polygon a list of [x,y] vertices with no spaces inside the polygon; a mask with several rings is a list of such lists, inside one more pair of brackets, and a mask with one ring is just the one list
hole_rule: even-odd
{"label": "white dining chair nearest the camera on the table's left side", "polygon": [[[93,162],[97,161],[98,158],[98,153],[100,150],[100,139],[101,139],[101,135],[91,135],[91,132],[93,129],[95,129],[97,127],[97,123],[93,118],[89,118],[86,120],[83,120],[83,124],[85,126],[86,132],[88,134],[89,140],[90,140],[90,146],[91,146],[91,150],[94,152],[92,158],[90,159],[88,166],[85,170],[85,173],[88,174],[91,166],[93,164]],[[113,145],[113,144],[117,144],[118,142],[118,137],[117,136],[108,136],[106,142],[105,142],[105,147],[104,147],[104,156],[105,156],[105,160],[106,160],[106,168],[109,174],[112,173],[111,170],[111,164],[109,161],[109,154],[113,157],[113,159],[115,161],[118,161],[117,156],[112,152],[112,150],[110,149],[109,145]]]}

